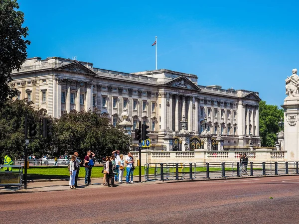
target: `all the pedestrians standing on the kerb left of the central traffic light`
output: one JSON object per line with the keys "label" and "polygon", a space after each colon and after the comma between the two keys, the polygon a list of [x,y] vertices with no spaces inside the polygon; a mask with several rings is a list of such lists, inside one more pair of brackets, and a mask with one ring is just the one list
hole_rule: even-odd
{"label": "all the pedestrians standing on the kerb left of the central traffic light", "polygon": [[[92,185],[91,183],[91,171],[94,166],[93,157],[95,153],[88,150],[87,155],[82,161],[79,157],[78,152],[75,152],[69,163],[69,173],[70,180],[69,186],[71,189],[78,188],[78,175],[80,171],[80,166],[83,165],[85,168],[85,186]],[[134,158],[131,152],[128,152],[124,160],[124,155],[120,154],[119,150],[112,152],[111,156],[106,156],[103,159],[103,184],[108,187],[114,187],[116,182],[123,183],[124,169],[126,166],[126,183],[133,183],[133,173],[134,173]]]}

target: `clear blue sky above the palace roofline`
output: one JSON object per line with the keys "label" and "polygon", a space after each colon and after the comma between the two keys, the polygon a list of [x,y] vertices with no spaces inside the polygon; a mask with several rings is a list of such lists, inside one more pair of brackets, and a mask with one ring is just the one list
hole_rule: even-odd
{"label": "clear blue sky above the palace roofline", "polygon": [[29,28],[28,57],[77,57],[121,72],[191,73],[199,85],[260,93],[283,105],[299,69],[296,0],[18,0]]}

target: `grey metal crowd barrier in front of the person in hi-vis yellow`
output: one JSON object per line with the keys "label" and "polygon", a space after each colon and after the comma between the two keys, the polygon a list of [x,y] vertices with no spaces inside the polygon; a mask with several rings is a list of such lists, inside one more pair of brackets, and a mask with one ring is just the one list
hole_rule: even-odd
{"label": "grey metal crowd barrier in front of the person in hi-vis yellow", "polygon": [[[6,170],[6,169],[11,170]],[[22,166],[0,166],[0,189],[15,191],[21,188],[23,178]]]}

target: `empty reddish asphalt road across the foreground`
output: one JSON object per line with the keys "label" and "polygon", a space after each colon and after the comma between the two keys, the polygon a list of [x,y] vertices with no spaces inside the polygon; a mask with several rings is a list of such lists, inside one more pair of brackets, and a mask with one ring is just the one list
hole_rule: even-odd
{"label": "empty reddish asphalt road across the foreground", "polygon": [[298,189],[299,176],[283,176],[4,194],[0,220],[6,224],[298,224]]}

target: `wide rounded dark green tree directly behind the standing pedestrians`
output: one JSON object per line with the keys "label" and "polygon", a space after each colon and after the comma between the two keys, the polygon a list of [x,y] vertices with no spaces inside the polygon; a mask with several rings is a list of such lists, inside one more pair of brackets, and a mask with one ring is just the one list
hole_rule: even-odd
{"label": "wide rounded dark green tree directly behind the standing pedestrians", "polygon": [[72,111],[62,115],[53,122],[51,153],[72,154],[77,151],[83,156],[87,150],[92,150],[100,159],[116,149],[128,152],[131,136],[123,128],[109,123],[108,118],[94,112]]}

